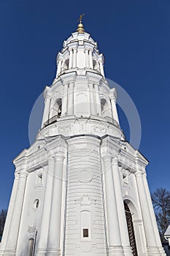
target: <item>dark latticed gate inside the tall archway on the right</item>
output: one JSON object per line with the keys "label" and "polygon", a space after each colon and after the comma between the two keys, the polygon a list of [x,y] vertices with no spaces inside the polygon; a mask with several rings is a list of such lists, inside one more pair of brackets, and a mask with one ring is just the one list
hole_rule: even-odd
{"label": "dark latticed gate inside the tall archway on the right", "polygon": [[129,237],[131,249],[132,249],[133,255],[138,256],[131,211],[128,208],[127,203],[125,203],[125,202],[124,202],[124,207],[125,207],[125,217],[126,217],[126,222],[127,222],[127,225],[128,225],[128,237]]}

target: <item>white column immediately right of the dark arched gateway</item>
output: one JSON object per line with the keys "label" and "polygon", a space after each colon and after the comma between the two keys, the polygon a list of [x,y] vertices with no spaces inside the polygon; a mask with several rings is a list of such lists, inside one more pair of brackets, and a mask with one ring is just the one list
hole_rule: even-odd
{"label": "white column immediately right of the dark arched gateway", "polygon": [[142,210],[142,219],[144,222],[144,231],[145,231],[145,236],[147,240],[147,252],[148,252],[148,256],[151,256],[151,255],[154,255],[154,253],[158,253],[158,248],[156,244],[154,228],[152,226],[152,217],[150,216],[150,209],[147,203],[147,195],[145,192],[142,175],[143,175],[142,171],[138,171],[135,173],[136,184],[138,187],[139,201],[140,201],[141,210]]}

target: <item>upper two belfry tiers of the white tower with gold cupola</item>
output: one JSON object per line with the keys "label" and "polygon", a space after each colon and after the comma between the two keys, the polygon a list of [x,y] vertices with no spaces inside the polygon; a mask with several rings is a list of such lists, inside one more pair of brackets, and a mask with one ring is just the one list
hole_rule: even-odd
{"label": "upper two belfry tiers of the white tower with gold cupola", "polygon": [[63,42],[57,64],[53,86],[45,89],[42,128],[58,118],[92,116],[96,120],[107,119],[119,127],[116,90],[109,89],[104,78],[104,57],[90,34],[85,33],[82,23]]}

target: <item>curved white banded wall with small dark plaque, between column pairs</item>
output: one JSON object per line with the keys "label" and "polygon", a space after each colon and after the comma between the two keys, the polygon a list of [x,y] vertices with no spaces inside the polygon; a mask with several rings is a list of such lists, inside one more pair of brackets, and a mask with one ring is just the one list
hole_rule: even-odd
{"label": "curved white banded wall with small dark plaque, between column pairs", "polygon": [[[85,136],[68,143],[65,255],[106,255],[100,140]],[[82,211],[89,217],[81,223]],[[88,238],[82,238],[82,227],[89,228]]]}

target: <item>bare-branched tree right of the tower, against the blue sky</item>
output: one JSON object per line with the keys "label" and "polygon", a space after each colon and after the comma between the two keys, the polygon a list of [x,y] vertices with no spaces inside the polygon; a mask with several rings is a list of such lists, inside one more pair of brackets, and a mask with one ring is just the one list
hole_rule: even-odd
{"label": "bare-branched tree right of the tower, against the blue sky", "polygon": [[163,188],[156,189],[151,197],[161,241],[164,242],[164,233],[170,225],[170,191]]}

